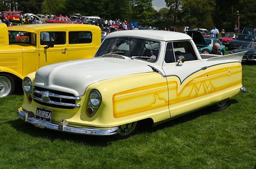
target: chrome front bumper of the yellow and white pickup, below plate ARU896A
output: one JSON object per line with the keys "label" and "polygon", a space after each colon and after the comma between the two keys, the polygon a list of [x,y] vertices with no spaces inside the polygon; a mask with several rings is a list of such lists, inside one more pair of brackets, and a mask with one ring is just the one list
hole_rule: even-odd
{"label": "chrome front bumper of the yellow and white pickup, below plate ARU896A", "polygon": [[33,113],[27,113],[19,108],[16,112],[17,116],[20,117],[23,121],[26,121],[30,124],[33,124],[35,127],[39,127],[41,129],[52,129],[57,131],[63,131],[67,133],[75,133],[82,135],[94,135],[94,136],[110,136],[118,133],[118,127],[110,127],[110,128],[94,128],[84,126],[84,128],[79,127],[70,127],[68,126],[68,122],[53,124],[46,121],[41,121],[35,119]]}

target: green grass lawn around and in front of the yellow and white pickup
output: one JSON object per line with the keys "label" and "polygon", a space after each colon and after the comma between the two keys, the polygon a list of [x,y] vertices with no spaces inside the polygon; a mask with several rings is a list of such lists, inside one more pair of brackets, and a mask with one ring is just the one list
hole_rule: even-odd
{"label": "green grass lawn around and in front of the yellow and white pickup", "polygon": [[[0,168],[253,168],[256,65],[224,111],[210,108],[123,140],[39,129],[16,116],[22,91],[0,98]],[[256,166],[255,166],[256,167]]]}

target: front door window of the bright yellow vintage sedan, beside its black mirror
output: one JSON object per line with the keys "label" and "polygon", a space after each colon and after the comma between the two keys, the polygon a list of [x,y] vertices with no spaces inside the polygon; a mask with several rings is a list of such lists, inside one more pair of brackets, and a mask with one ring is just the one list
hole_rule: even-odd
{"label": "front door window of the bright yellow vintage sedan, beside its black mirror", "polygon": [[40,33],[40,45],[47,45],[53,43],[54,45],[65,44],[65,32],[41,32]]}

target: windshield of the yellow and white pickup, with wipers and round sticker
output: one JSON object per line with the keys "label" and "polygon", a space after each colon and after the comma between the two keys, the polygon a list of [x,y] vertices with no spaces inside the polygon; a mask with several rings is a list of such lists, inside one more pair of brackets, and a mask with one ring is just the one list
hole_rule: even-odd
{"label": "windshield of the yellow and white pickup, with wipers and round sticker", "polygon": [[[99,50],[95,54],[95,57],[114,53],[128,57],[133,56],[136,59],[146,60],[148,62],[156,62],[159,55],[159,48],[160,43],[154,40],[128,37],[110,38],[102,43]],[[152,60],[147,58],[151,56],[153,56],[155,59]]]}

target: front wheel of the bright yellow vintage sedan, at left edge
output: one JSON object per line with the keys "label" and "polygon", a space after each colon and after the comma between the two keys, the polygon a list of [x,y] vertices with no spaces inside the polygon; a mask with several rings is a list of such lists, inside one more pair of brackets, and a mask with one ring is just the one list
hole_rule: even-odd
{"label": "front wheel of the bright yellow vintage sedan, at left edge", "polygon": [[0,98],[11,95],[14,92],[14,80],[11,76],[0,74]]}

